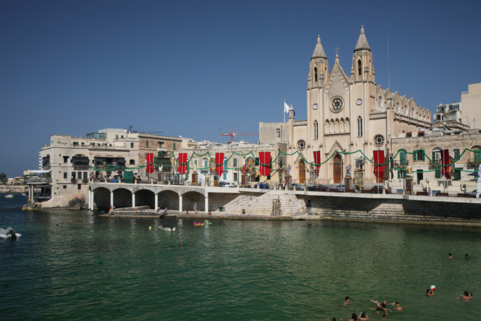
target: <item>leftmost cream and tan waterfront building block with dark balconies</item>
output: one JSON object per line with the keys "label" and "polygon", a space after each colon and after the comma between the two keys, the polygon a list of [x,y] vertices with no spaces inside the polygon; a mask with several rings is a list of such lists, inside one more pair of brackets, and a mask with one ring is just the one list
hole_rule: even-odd
{"label": "leftmost cream and tan waterfront building block with dark balconies", "polygon": [[[122,178],[126,168],[133,168],[135,176],[146,179],[146,154],[153,153],[155,158],[159,151],[167,154],[177,148],[181,148],[179,137],[131,133],[125,129],[101,129],[85,137],[52,135],[50,144],[39,153],[41,170],[49,170],[51,186],[45,188],[51,199],[42,206],[82,206],[87,201],[89,181]],[[164,158],[170,164],[170,158]],[[158,165],[152,176],[160,176]],[[75,206],[71,206],[72,201]]]}

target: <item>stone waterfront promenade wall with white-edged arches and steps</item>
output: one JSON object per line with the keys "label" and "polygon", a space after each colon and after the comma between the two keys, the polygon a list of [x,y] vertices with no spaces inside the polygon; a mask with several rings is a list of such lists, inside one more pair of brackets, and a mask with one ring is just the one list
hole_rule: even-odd
{"label": "stone waterfront promenade wall with white-edged arches and steps", "polygon": [[[481,227],[481,200],[465,197],[383,195],[306,190],[258,190],[93,183],[89,204],[124,217],[170,215],[199,219],[331,219]],[[195,210],[199,214],[194,214]],[[189,214],[186,214],[186,211]],[[208,215],[208,212],[212,215]]]}

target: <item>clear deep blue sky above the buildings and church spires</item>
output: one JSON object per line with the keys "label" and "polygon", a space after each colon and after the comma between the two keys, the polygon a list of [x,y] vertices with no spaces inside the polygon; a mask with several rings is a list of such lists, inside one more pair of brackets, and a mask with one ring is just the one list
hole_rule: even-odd
{"label": "clear deep blue sky above the buildings and church spires", "polygon": [[[364,25],[376,80],[431,111],[481,82],[481,1],[0,1],[0,173],[52,134],[133,126],[195,140],[306,118],[320,34],[350,73]],[[256,136],[240,136],[254,142]]]}

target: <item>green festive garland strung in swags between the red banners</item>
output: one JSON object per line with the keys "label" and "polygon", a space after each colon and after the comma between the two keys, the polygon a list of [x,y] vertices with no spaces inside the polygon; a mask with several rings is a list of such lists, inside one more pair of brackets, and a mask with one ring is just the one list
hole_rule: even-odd
{"label": "green festive garland strung in swags between the red banners", "polygon": [[[374,161],[372,161],[369,157],[367,157],[363,151],[361,151],[360,149],[358,149],[357,151],[353,151],[353,152],[341,152],[341,151],[335,151],[334,153],[332,153],[324,162],[321,162],[320,164],[315,164],[315,163],[311,163],[311,162],[308,162],[307,159],[304,158],[304,156],[302,155],[302,153],[300,153],[299,151],[295,151],[294,153],[284,153],[282,151],[279,151],[279,153],[276,155],[276,158],[272,159],[272,162],[269,162],[269,163],[265,163],[265,164],[262,164],[260,163],[257,159],[256,159],[256,156],[254,155],[254,153],[252,151],[249,151],[248,153],[245,153],[245,154],[239,154],[237,152],[232,152],[230,157],[227,158],[225,160],[225,162],[223,163],[220,163],[220,164],[216,164],[215,162],[215,157],[212,157],[212,155],[210,155],[209,151],[203,153],[203,154],[198,154],[197,152],[194,152],[192,153],[192,155],[190,156],[189,159],[187,159],[187,161],[185,163],[181,163],[179,162],[178,158],[175,157],[175,154],[173,152],[170,152],[170,153],[167,153],[167,154],[164,154],[162,152],[159,152],[157,154],[157,157],[155,157],[155,159],[153,160],[153,162],[150,162],[149,164],[146,164],[146,165],[142,165],[142,166],[133,166],[133,167],[124,167],[124,166],[104,166],[103,168],[95,168],[93,166],[89,166],[91,170],[96,170],[96,171],[107,171],[107,170],[115,170],[117,168],[121,168],[122,170],[137,170],[137,169],[141,169],[141,168],[145,168],[146,166],[150,166],[152,164],[155,164],[155,162],[157,161],[157,159],[159,157],[172,157],[172,159],[174,159],[174,162],[177,163],[178,165],[187,165],[188,168],[190,168],[189,166],[189,163],[190,161],[192,160],[192,158],[194,157],[194,155],[197,155],[197,157],[204,157],[205,155],[208,155],[209,159],[212,160],[212,163],[215,164],[216,166],[221,166],[221,165],[224,165],[224,168],[229,170],[229,169],[232,169],[232,170],[237,170],[237,169],[241,169],[242,166],[240,167],[233,167],[233,168],[227,168],[227,162],[230,161],[230,159],[232,157],[234,157],[234,155],[237,155],[237,156],[240,156],[240,157],[245,157],[247,155],[251,155],[252,157],[254,157],[254,160],[256,162],[256,164],[258,166],[271,166],[272,164],[276,163],[277,162],[277,159],[281,156],[281,155],[284,155],[284,156],[292,156],[292,155],[295,155],[295,154],[298,154],[300,156],[300,158],[306,163],[306,164],[309,164],[311,166],[322,166],[323,164],[326,164],[326,162],[328,162],[332,157],[334,157],[336,154],[343,154],[343,155],[350,155],[350,154],[355,154],[355,153],[361,153],[361,155],[367,159],[370,163],[374,164],[374,165],[377,165],[377,166],[383,166],[385,164],[388,164],[390,162],[394,162],[394,159],[399,155],[399,153],[406,153],[406,154],[411,154],[411,155],[414,155],[414,154],[417,154],[419,152],[421,152],[428,160],[429,160],[429,163],[430,164],[434,164],[436,165],[437,168],[434,168],[432,170],[413,170],[412,172],[413,173],[427,173],[427,172],[433,172],[435,170],[440,170],[440,168],[443,168],[443,167],[449,167],[449,166],[452,166],[454,164],[456,164],[456,162],[458,162],[458,160],[462,157],[462,155],[465,155],[465,153],[469,151],[471,153],[474,153],[474,155],[479,155],[478,158],[480,158],[481,160],[481,151],[478,150],[478,149],[469,149],[469,148],[465,148],[464,151],[462,151],[462,153],[460,153],[460,155],[453,160],[453,162],[449,163],[449,164],[445,164],[445,165],[441,165],[441,164],[437,164],[435,161],[433,161],[431,158],[429,158],[429,156],[425,153],[424,149],[417,149],[417,150],[414,150],[412,152],[408,152],[408,151],[405,151],[404,149],[399,149],[397,152],[396,152],[396,155],[394,155],[392,157],[392,159],[389,159],[388,161],[386,162],[383,162],[383,163],[376,163]],[[170,167],[170,166],[174,166],[173,164],[170,164],[170,165],[164,165],[162,164],[162,166],[164,167]],[[198,168],[199,170],[207,170],[209,169],[210,167],[207,166],[207,167],[201,167],[201,168]],[[392,168],[396,169],[396,170],[403,170],[403,171],[406,171],[405,168],[399,168],[399,167],[396,167],[396,166],[392,166]],[[462,171],[462,172],[468,172],[468,173],[478,173],[476,170],[475,171],[472,171],[472,170],[462,170],[460,168],[454,168],[455,170],[458,170],[458,171]]]}

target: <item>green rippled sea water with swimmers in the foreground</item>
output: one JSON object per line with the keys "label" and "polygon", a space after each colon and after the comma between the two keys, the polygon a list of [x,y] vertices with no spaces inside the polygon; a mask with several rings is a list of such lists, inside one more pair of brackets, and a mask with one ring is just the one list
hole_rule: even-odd
{"label": "green rippled sea water with swimmers in the foreground", "polygon": [[169,219],[177,231],[165,232],[157,219],[22,212],[23,201],[0,198],[0,226],[23,234],[0,239],[1,318],[375,320],[370,299],[385,298],[404,308],[389,319],[481,319],[478,229]]}

